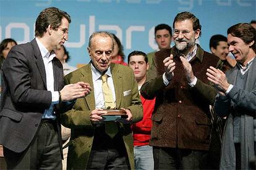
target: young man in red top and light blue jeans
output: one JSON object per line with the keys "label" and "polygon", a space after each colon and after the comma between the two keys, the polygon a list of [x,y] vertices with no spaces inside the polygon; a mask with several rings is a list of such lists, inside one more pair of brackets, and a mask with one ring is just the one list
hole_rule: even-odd
{"label": "young man in red top and light blue jeans", "polygon": [[[134,76],[138,83],[139,91],[147,79],[148,58],[142,51],[133,51],[128,55],[129,67],[134,70]],[[132,124],[134,137],[134,161],[135,169],[154,169],[153,148],[149,145],[152,127],[151,115],[155,107],[155,99],[147,100],[140,95],[143,106],[143,119],[139,123]]]}

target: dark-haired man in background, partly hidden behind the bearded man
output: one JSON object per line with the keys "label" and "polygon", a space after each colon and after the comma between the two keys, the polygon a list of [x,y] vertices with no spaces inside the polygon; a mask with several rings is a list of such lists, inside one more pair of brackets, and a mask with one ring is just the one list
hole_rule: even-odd
{"label": "dark-haired man in background, partly hidden behind the bearded man", "polygon": [[[155,27],[155,41],[158,45],[158,51],[171,48],[171,40],[173,38],[173,31],[171,26],[161,23]],[[148,65],[151,67],[153,57],[155,57],[155,52],[150,52],[147,54]]]}

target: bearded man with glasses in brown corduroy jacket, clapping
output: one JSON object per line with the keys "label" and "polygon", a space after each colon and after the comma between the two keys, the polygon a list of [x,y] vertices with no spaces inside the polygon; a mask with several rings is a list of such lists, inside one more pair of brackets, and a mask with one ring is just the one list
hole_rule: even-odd
{"label": "bearded man with glasses in brown corduroy jacket, clapping", "polygon": [[209,105],[216,95],[205,74],[208,66],[217,65],[218,57],[195,43],[201,33],[195,15],[177,14],[173,27],[175,46],[156,52],[148,74],[152,77],[140,89],[145,99],[156,97],[150,139],[154,168],[205,169],[211,134]]}

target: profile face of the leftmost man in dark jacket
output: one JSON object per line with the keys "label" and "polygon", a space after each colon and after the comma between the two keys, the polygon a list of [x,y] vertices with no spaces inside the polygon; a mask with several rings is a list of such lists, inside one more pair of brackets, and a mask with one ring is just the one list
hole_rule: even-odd
{"label": "profile face of the leftmost man in dark jacket", "polygon": [[67,18],[63,17],[61,20],[61,25],[58,28],[53,29],[51,26],[48,28],[51,34],[51,47],[49,49],[56,50],[60,49],[61,46],[69,39],[69,22]]}

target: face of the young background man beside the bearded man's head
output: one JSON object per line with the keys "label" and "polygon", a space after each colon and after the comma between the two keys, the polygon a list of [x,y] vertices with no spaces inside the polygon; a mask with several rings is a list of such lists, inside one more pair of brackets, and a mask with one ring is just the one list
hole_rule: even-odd
{"label": "face of the young background man beside the bearded man's head", "polygon": [[155,34],[155,40],[160,50],[169,49],[171,46],[171,34],[168,30],[157,30]]}

